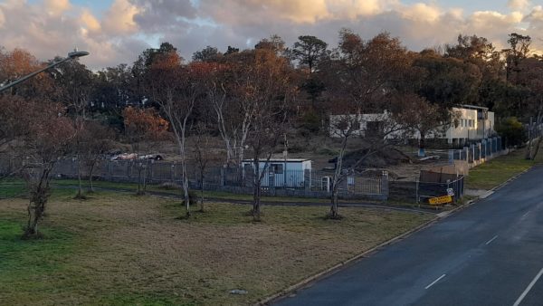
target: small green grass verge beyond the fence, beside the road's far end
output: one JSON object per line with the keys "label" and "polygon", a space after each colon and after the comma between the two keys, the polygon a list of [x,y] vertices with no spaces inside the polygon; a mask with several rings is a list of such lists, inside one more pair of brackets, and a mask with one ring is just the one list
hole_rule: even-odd
{"label": "small green grass verge beyond the fence, beside the road's far end", "polygon": [[466,177],[466,188],[470,189],[491,189],[543,162],[543,149],[539,151],[536,160],[524,158],[525,150],[519,149],[509,155],[491,159],[480,166],[470,170]]}

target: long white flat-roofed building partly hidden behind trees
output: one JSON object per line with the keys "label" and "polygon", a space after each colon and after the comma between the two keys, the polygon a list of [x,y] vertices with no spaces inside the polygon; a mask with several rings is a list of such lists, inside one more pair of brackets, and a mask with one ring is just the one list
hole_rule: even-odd
{"label": "long white flat-roofed building partly hidden behind trees", "polygon": [[[427,139],[447,139],[448,143],[465,143],[472,139],[485,139],[491,137],[494,132],[494,113],[488,108],[462,105],[461,107],[452,108],[452,112],[458,116],[447,127],[435,129],[426,135]],[[350,121],[348,126],[341,127],[348,129],[351,125],[355,125],[353,135],[363,136],[372,129],[382,129],[388,113],[381,114],[360,114],[349,115],[348,120],[345,120],[345,115],[331,115],[330,120],[330,137],[340,137],[341,129],[338,129],[340,120]],[[387,123],[390,124],[390,123]],[[400,131],[387,135],[387,138],[394,138],[401,133]],[[411,133],[410,138],[420,139],[420,134],[417,131]]]}

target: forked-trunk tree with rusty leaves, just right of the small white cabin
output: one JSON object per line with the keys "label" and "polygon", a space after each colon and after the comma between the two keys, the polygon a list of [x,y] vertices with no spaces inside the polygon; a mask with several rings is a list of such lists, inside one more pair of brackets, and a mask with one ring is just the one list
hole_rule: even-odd
{"label": "forked-trunk tree with rusty leaves, just right of the small white cabin", "polygon": [[[390,96],[395,84],[400,82],[410,62],[405,47],[388,33],[380,33],[364,42],[356,33],[344,29],[339,33],[338,51],[328,65],[327,94],[337,114],[330,118],[330,129],[341,139],[332,178],[329,217],[338,218],[338,188],[346,174],[387,146],[390,142],[386,139],[404,129],[387,110],[391,109]],[[372,114],[370,117],[375,118],[365,118],[364,114]],[[368,120],[377,122],[377,126],[368,130]],[[344,169],[348,140],[353,137],[367,139],[370,146],[354,165]]]}

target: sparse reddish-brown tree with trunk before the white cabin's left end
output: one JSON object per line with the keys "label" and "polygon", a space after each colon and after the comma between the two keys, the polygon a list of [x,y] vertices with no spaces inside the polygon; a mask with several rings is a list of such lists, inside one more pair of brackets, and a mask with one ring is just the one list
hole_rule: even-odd
{"label": "sparse reddish-brown tree with trunk before the white cabin's left end", "polygon": [[[270,49],[256,49],[245,54],[249,61],[235,72],[238,98],[250,112],[251,125],[247,144],[252,149],[253,200],[252,215],[261,220],[262,178],[271,154],[286,129],[287,106],[296,91],[291,85],[288,60]],[[264,165],[261,169],[261,161]]]}

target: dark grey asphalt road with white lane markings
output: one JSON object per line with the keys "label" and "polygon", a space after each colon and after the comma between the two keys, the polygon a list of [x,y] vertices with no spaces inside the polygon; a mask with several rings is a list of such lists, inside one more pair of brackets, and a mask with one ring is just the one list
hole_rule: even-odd
{"label": "dark grey asphalt road with white lane markings", "polygon": [[537,167],[275,304],[540,306],[542,274],[543,167]]}

